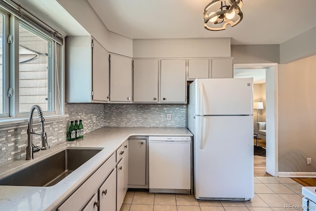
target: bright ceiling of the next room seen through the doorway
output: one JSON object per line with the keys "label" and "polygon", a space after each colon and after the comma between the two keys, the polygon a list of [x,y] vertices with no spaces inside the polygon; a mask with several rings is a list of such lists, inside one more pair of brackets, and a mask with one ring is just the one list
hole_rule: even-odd
{"label": "bright ceiling of the next room seen through the doorway", "polygon": [[265,68],[234,68],[234,78],[253,78],[254,84],[266,83],[266,69]]}

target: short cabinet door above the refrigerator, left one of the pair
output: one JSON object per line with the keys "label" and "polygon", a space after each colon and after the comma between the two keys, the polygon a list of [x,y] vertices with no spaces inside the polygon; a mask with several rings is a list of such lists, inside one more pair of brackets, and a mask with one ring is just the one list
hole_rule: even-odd
{"label": "short cabinet door above the refrigerator, left one of the pair", "polygon": [[209,59],[189,59],[188,78],[208,79]]}

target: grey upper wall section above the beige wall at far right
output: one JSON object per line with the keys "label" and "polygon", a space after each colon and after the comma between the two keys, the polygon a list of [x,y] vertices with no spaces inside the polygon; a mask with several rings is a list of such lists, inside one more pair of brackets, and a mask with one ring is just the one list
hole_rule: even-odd
{"label": "grey upper wall section above the beige wall at far right", "polygon": [[316,54],[316,27],[280,44],[280,64]]}

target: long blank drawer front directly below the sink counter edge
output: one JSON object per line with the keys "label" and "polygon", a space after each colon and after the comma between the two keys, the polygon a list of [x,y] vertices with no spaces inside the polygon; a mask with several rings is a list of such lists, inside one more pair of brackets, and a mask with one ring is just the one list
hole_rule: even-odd
{"label": "long blank drawer front directly below the sink counter edge", "polygon": [[104,179],[115,168],[115,154],[97,169],[59,208],[58,211],[81,210]]}

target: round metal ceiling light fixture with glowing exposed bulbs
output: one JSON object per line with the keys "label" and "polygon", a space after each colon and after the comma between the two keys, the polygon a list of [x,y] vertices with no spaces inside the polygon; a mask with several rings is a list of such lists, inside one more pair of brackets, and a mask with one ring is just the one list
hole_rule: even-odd
{"label": "round metal ceiling light fixture with glowing exposed bulbs", "polygon": [[242,20],[242,0],[212,0],[204,9],[204,28],[211,31],[232,27]]}

